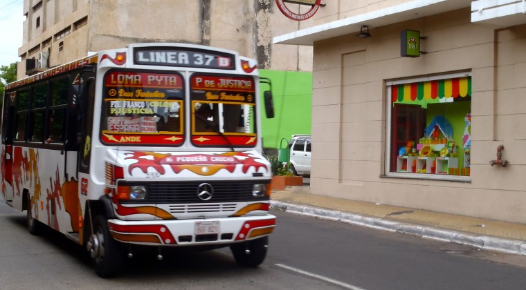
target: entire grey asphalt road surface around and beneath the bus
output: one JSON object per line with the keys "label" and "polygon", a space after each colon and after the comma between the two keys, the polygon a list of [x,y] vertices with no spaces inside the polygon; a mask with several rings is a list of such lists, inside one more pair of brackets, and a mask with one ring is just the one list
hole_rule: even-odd
{"label": "entire grey asphalt road surface around and beneath the bus", "polygon": [[[278,224],[257,269],[228,249],[155,253],[101,279],[84,248],[30,235],[0,200],[0,289],[525,289],[526,258],[273,211]],[[496,262],[498,261],[498,262]]]}

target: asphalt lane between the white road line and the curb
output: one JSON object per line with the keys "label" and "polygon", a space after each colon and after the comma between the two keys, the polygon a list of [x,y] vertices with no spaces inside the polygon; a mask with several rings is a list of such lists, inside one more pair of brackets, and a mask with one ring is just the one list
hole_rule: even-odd
{"label": "asphalt lane between the white road line and the curb", "polygon": [[267,262],[275,260],[362,289],[525,289],[526,285],[525,256],[291,213],[278,213]]}

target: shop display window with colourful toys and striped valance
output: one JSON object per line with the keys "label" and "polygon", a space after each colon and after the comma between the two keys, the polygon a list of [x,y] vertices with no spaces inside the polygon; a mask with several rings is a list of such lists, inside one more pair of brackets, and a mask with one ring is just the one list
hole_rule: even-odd
{"label": "shop display window with colourful toys and striped valance", "polygon": [[469,176],[471,76],[388,82],[388,172]]}

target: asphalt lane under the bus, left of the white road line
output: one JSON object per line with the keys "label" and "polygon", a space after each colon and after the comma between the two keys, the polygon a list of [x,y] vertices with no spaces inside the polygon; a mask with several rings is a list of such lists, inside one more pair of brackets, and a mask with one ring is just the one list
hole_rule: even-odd
{"label": "asphalt lane under the bus, left of the white road line", "polygon": [[162,261],[144,253],[124,268],[116,278],[99,278],[83,247],[51,231],[30,235],[25,215],[0,199],[0,289],[341,289],[271,262],[238,267],[228,249],[172,253]]}

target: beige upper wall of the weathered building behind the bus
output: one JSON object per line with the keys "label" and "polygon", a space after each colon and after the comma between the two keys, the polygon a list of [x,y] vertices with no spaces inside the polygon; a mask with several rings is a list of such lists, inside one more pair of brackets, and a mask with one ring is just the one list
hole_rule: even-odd
{"label": "beige upper wall of the weathered building behind the bus", "polygon": [[[273,45],[276,35],[293,32],[313,21],[291,21],[275,7],[275,1],[236,0],[24,0],[24,44],[19,48],[18,79],[25,77],[28,53],[41,46],[50,50],[50,66],[80,59],[87,52],[125,47],[129,43],[185,42],[239,52],[260,60],[261,68],[273,70],[312,69],[311,46]],[[41,26],[35,27],[36,17]],[[88,25],[73,23],[88,17]],[[55,34],[71,27],[59,41]],[[42,43],[53,37],[51,46]],[[64,50],[58,51],[58,43]]]}

